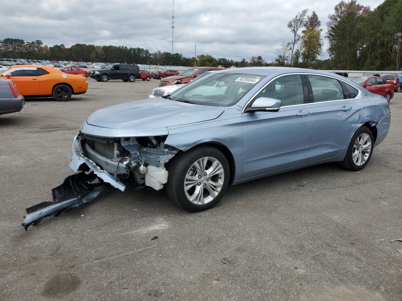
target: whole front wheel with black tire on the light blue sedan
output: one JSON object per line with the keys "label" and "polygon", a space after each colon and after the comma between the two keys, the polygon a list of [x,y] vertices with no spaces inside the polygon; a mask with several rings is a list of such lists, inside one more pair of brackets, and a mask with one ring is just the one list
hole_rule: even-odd
{"label": "whole front wheel with black tire on the light blue sedan", "polygon": [[170,199],[189,212],[213,207],[228,188],[228,160],[211,146],[200,146],[176,155],[167,169],[166,191]]}

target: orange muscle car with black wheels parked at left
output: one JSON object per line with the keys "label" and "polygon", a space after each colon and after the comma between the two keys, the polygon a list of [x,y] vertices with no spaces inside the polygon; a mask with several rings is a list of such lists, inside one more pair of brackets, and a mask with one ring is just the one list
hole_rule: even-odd
{"label": "orange muscle car with black wheels parked at left", "polygon": [[53,96],[55,100],[64,102],[72,94],[84,94],[88,88],[85,77],[48,66],[15,65],[0,73],[0,78],[3,76],[12,79],[25,98]]}

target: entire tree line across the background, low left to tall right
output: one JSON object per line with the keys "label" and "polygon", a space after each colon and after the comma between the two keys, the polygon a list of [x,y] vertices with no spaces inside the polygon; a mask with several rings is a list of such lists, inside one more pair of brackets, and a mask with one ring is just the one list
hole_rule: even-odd
{"label": "entire tree line across the background, low left to tall right", "polygon": [[[141,63],[151,65],[292,66],[338,70],[400,70],[402,67],[402,0],[385,0],[374,10],[357,0],[342,0],[328,16],[327,34],[315,11],[298,12],[287,24],[293,39],[281,43],[273,62],[261,56],[248,61],[215,58],[209,54],[184,57],[181,53],[125,46],[63,44],[48,47],[40,40],[7,38],[0,41],[0,57],[84,62]],[[322,59],[323,38],[328,39],[329,59]]]}

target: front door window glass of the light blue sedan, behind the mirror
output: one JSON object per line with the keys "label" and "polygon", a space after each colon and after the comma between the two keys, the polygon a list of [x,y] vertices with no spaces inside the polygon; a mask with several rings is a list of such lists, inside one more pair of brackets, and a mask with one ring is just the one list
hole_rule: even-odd
{"label": "front door window glass of the light blue sedan, behind the mirror", "polygon": [[269,97],[279,99],[283,106],[304,103],[303,83],[300,75],[285,75],[269,83],[254,99]]}

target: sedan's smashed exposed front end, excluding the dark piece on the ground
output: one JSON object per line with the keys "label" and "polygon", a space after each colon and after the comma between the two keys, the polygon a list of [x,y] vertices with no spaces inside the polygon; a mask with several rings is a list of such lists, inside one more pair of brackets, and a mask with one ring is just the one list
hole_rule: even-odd
{"label": "sedan's smashed exposed front end, excluding the dark piece on the ground", "polygon": [[164,144],[166,136],[99,138],[80,133],[74,137],[69,167],[77,173],[92,169],[106,183],[124,191],[132,181],[141,188],[163,188],[168,172],[164,163],[177,148]]}

